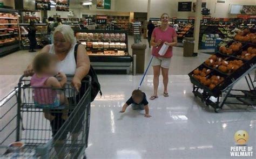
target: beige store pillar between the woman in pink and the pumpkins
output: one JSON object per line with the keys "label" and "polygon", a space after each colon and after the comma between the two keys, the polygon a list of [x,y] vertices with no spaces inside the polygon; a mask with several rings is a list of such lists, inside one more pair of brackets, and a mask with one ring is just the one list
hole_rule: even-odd
{"label": "beige store pillar between the woman in pink and the pumpkins", "polygon": [[195,41],[194,53],[198,53],[201,9],[202,9],[202,0],[197,0],[196,16],[194,21],[194,41]]}

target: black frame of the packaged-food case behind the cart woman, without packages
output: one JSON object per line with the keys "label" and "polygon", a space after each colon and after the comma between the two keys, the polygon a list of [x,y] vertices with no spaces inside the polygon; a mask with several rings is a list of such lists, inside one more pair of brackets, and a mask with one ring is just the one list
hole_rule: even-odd
{"label": "black frame of the packaged-food case behind the cart woman, without packages", "polygon": [[[124,50],[126,55],[124,56],[111,56],[111,55],[89,55],[91,64],[95,68],[96,72],[99,74],[130,74],[130,67],[132,62],[132,56],[129,55],[129,45],[127,39],[127,31],[117,31],[117,30],[74,30],[76,33],[125,33],[125,41],[122,41],[126,44],[125,49],[105,49],[105,48],[86,48],[87,51],[99,52],[104,50]],[[78,41],[83,42],[83,41]],[[86,42],[106,42],[106,41],[86,41]],[[112,42],[112,41],[108,41]],[[120,41],[113,41],[120,42]]]}

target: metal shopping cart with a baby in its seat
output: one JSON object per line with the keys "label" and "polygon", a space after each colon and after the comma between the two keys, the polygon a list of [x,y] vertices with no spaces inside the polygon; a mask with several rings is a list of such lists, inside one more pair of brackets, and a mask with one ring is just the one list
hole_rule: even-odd
{"label": "metal shopping cart with a baby in its seat", "polygon": [[[71,77],[68,76],[70,82]],[[55,89],[64,93],[69,103],[49,111],[57,116],[68,108],[69,117],[50,122],[45,119],[43,109],[35,105],[35,88],[30,86],[30,79],[22,76],[18,87],[0,102],[0,158],[14,155],[24,158],[83,157],[89,135],[91,77],[86,76],[82,82],[85,86],[80,89],[81,93],[77,93],[70,84],[63,89]],[[61,127],[58,121],[63,121]],[[52,135],[53,131],[55,135]],[[15,141],[23,142],[24,146],[10,153],[8,145]]]}

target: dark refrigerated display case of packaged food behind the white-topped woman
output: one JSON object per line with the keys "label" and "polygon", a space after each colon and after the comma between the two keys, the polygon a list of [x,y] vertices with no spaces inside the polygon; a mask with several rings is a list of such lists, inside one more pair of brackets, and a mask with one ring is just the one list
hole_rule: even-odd
{"label": "dark refrigerated display case of packaged food behind the white-topped woman", "polygon": [[128,52],[127,31],[75,30],[75,34],[98,73],[129,74],[132,57]]}

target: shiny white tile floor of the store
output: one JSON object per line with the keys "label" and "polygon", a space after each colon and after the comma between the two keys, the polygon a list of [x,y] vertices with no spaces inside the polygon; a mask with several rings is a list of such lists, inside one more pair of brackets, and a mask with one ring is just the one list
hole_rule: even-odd
{"label": "shiny white tile floor of the store", "polygon": [[[146,49],[146,53],[148,61],[150,50]],[[133,111],[131,107],[125,113],[119,113],[142,75],[99,75],[103,97],[97,97],[91,104],[87,158],[232,158],[233,135],[239,129],[250,135],[247,146],[254,147],[254,157],[251,158],[255,158],[255,111],[214,113],[193,96],[186,74],[208,56],[199,53],[198,57],[183,57],[183,48],[174,48],[170,97],[161,95],[163,84],[160,84],[159,98],[149,101],[152,115],[149,119],[143,116],[144,111]],[[20,51],[0,58],[0,97],[17,84],[32,57],[33,54]],[[152,79],[150,69],[141,88],[148,97],[152,93]],[[244,87],[244,81],[238,84],[238,88]]]}

